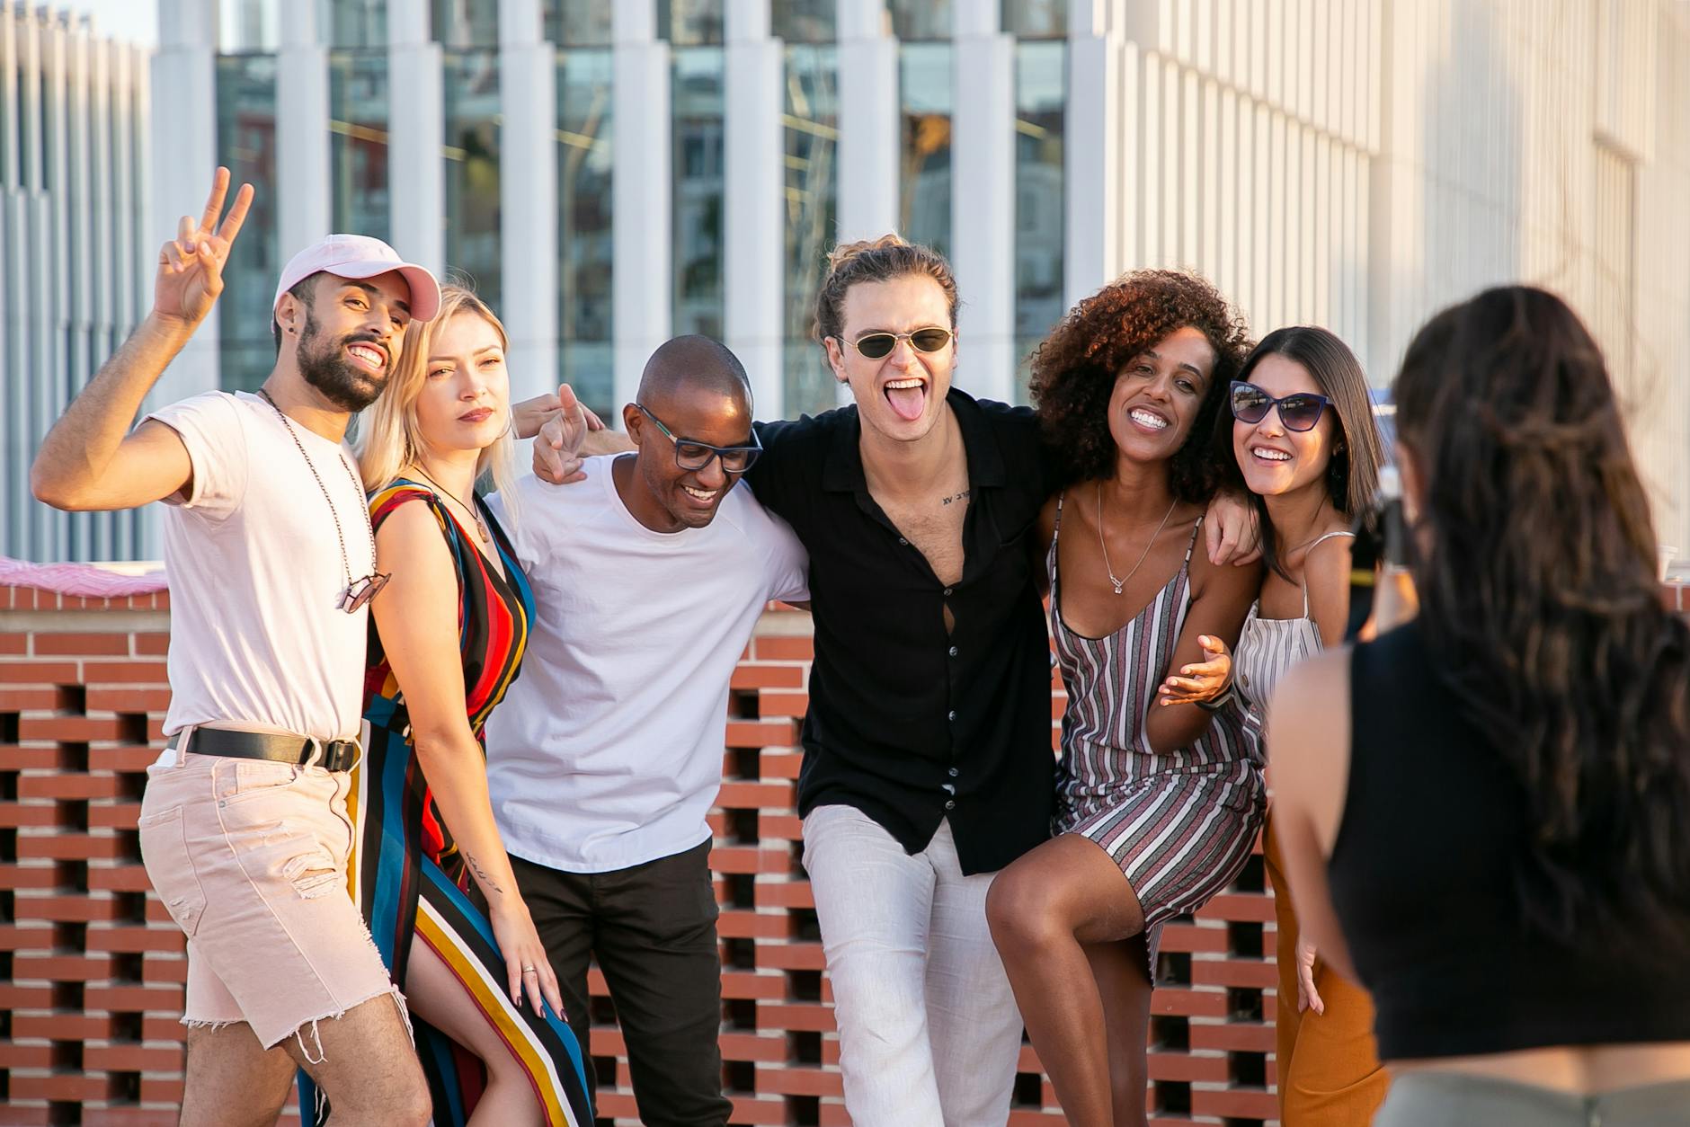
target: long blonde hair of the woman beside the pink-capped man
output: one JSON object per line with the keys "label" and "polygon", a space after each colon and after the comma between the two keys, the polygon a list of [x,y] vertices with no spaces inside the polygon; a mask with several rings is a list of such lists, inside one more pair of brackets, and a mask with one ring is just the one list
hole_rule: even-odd
{"label": "long blonde hair of the woman beside the pink-capped man", "polygon": [[[363,485],[372,493],[385,488],[399,476],[399,471],[414,463],[428,449],[422,431],[417,426],[417,397],[428,382],[428,355],[434,343],[434,333],[461,313],[473,313],[499,333],[499,345],[509,351],[510,338],[487,302],[473,291],[446,284],[439,287],[439,313],[433,321],[411,324],[406,333],[406,345],[399,353],[399,367],[394,368],[392,384],[384,395],[365,412],[358,427],[358,471]],[[509,390],[505,392],[510,409]],[[505,429],[492,446],[482,449],[475,461],[475,478],[492,478],[492,485],[505,504],[505,522],[515,519],[515,434]]]}

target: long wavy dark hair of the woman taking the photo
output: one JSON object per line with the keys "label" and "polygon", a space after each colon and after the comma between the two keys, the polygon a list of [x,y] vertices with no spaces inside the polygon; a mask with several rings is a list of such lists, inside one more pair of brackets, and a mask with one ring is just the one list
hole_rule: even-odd
{"label": "long wavy dark hair of the woman taking the photo", "polygon": [[1513,767],[1531,840],[1516,892],[1568,943],[1690,955],[1690,625],[1602,353],[1526,286],[1408,346],[1398,433],[1425,482],[1428,651]]}

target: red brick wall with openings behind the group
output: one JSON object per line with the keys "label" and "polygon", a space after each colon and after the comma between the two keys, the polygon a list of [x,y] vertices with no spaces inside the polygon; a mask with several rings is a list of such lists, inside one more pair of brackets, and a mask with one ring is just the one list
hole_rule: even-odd
{"label": "red brick wall with openings behind the group", "polygon": [[[147,885],[135,836],[169,701],[166,605],[164,595],[0,588],[0,1124],[176,1122],[183,938]],[[771,613],[735,672],[727,781],[711,814],[735,1124],[850,1122],[798,863],[804,625]],[[1053,686],[1053,720],[1061,705]],[[1164,933],[1149,1066],[1156,1124],[1244,1125],[1274,1113],[1273,904],[1259,862],[1239,884]],[[603,994],[597,973],[593,992]],[[627,1061],[600,1005],[600,1110],[632,1124]],[[1060,1122],[1022,1049],[1011,1124]]]}

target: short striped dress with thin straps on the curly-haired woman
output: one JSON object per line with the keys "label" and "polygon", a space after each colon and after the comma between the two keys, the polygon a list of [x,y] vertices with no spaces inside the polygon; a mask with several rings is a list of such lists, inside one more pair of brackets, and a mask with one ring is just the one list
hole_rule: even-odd
{"label": "short striped dress with thin straps on the curly-haired woman", "polygon": [[1235,701],[1176,752],[1151,749],[1144,727],[1191,605],[1191,547],[1202,519],[1191,529],[1185,563],[1163,590],[1132,622],[1092,639],[1070,630],[1061,617],[1061,502],[1058,497],[1044,561],[1051,634],[1068,688],[1053,828],[1097,841],[1120,865],[1144,909],[1154,980],[1161,924],[1207,904],[1249,860],[1266,808],[1262,765]]}

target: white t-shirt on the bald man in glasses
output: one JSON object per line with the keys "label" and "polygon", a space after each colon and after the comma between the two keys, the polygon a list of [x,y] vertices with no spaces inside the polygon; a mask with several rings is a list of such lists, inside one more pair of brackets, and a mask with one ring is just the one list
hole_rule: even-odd
{"label": "white t-shirt on the bald man in glasses", "polygon": [[749,488],[703,529],[652,532],[617,495],[613,461],[588,458],[576,485],[515,487],[512,541],[539,612],[487,721],[487,784],[505,848],[563,872],[710,838],[728,678],[769,600],[810,598],[810,558]]}

